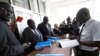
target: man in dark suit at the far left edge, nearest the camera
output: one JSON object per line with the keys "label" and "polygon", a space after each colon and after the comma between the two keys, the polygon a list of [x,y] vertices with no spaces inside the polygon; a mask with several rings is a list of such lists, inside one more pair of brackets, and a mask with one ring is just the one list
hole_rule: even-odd
{"label": "man in dark suit at the far left edge, nearest the camera", "polygon": [[24,46],[19,43],[7,22],[12,15],[10,4],[0,2],[0,56],[22,56]]}

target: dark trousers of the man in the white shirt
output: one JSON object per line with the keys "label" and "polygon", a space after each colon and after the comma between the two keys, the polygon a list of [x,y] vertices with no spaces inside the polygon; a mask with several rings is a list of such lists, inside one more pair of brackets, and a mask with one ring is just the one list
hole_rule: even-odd
{"label": "dark trousers of the man in the white shirt", "polygon": [[79,49],[78,56],[99,56],[99,50],[86,51]]}

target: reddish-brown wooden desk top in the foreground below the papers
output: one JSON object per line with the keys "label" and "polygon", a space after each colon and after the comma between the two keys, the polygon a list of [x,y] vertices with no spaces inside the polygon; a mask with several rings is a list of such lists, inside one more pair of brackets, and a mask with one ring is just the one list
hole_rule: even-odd
{"label": "reddish-brown wooden desk top in the foreground below the papers", "polygon": [[39,51],[32,51],[27,56],[34,56],[35,54],[64,54],[65,56],[71,56],[71,49],[70,48],[46,47]]}

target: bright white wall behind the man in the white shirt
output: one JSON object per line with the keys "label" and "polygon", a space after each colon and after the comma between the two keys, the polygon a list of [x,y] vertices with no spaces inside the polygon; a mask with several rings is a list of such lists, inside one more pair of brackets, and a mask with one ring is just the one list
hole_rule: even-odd
{"label": "bright white wall behind the man in the white shirt", "polygon": [[100,21],[99,12],[99,0],[71,0],[60,1],[49,3],[47,2],[47,15],[50,18],[50,23],[52,27],[55,23],[60,24],[63,20],[66,20],[68,16],[73,19],[76,16],[77,11],[82,7],[87,7],[90,10],[91,17],[95,20]]}

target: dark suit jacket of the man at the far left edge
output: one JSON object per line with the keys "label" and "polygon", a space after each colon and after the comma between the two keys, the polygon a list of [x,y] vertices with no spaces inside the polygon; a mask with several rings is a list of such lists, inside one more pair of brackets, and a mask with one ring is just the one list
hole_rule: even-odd
{"label": "dark suit jacket of the man at the far left edge", "polygon": [[16,39],[9,26],[0,20],[0,56],[21,56],[24,48]]}

